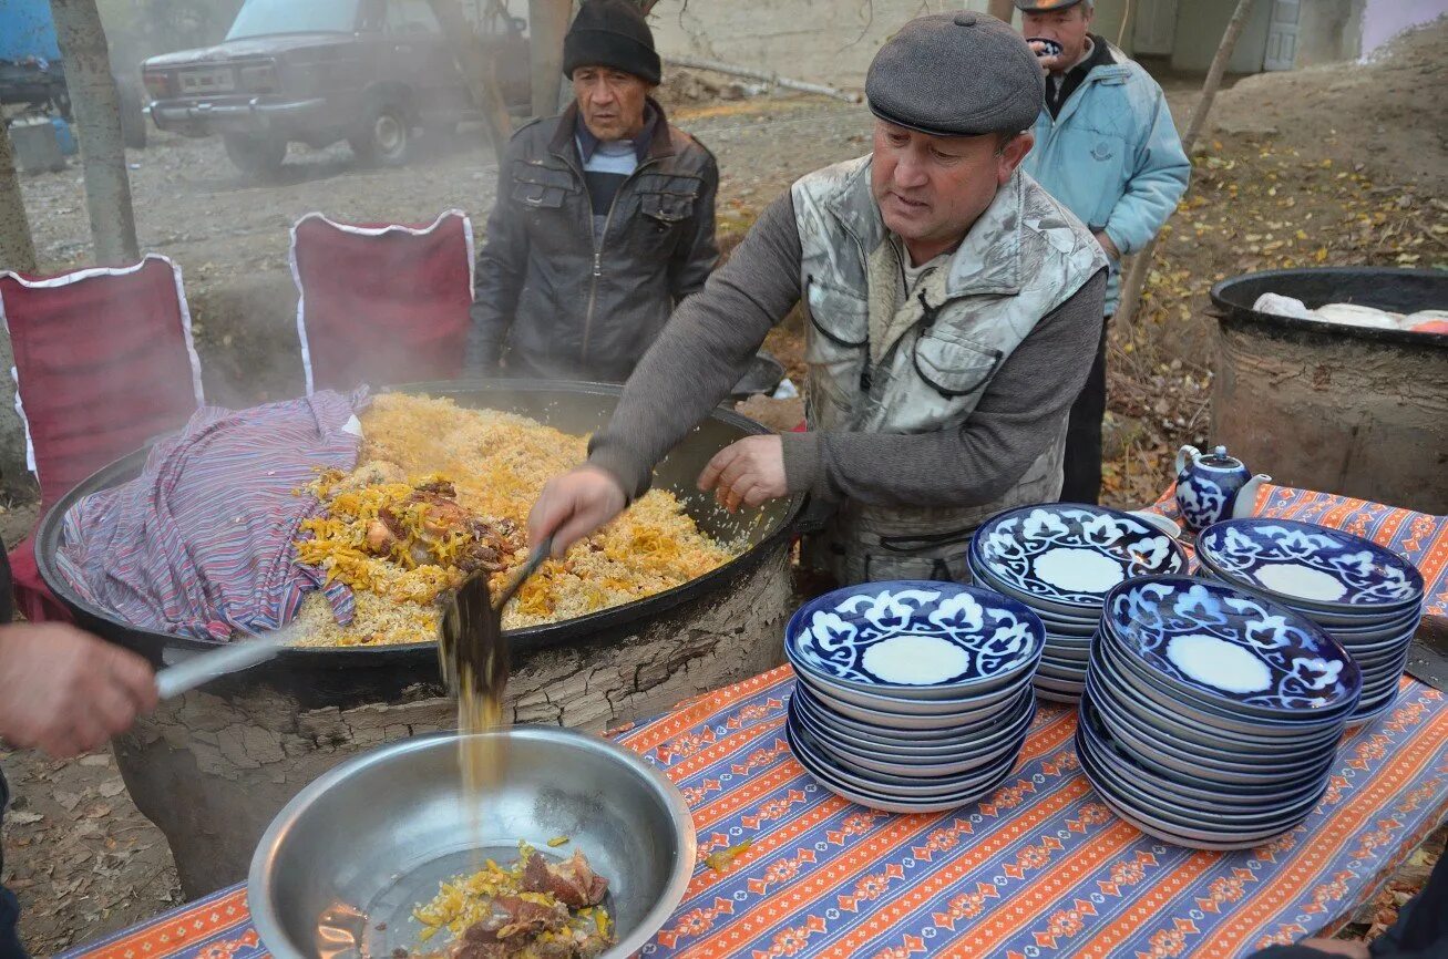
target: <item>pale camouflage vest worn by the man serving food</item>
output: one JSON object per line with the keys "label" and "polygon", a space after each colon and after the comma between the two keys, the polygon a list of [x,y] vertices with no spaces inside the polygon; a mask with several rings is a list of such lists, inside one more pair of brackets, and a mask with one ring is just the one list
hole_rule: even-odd
{"label": "pale camouflage vest worn by the man serving food", "polygon": [[[804,247],[807,417],[814,430],[959,427],[1041,317],[1106,265],[1090,233],[1018,172],[906,299],[896,244],[870,192],[870,158],[809,174],[791,192]],[[1060,495],[1064,443],[1063,414],[1050,447],[990,503],[847,502],[811,538],[807,560],[844,583],[969,579],[964,551],[985,518]]]}

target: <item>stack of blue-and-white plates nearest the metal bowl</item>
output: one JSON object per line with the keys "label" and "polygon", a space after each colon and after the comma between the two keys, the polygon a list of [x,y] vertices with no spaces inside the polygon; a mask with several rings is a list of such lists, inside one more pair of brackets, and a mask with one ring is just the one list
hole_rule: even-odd
{"label": "stack of blue-and-white plates nearest the metal bowl", "polygon": [[795,612],[786,735],[831,793],[891,813],[956,809],[1011,774],[1035,715],[1044,629],[956,583],[866,583]]}

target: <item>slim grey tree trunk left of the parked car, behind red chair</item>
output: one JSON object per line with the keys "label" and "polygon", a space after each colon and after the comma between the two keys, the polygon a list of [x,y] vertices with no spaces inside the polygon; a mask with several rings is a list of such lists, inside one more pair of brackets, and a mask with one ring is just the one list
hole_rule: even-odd
{"label": "slim grey tree trunk left of the parked car, behind red chair", "polygon": [[61,41],[71,110],[80,129],[96,262],[126,266],[140,259],[136,214],[130,207],[126,146],[120,133],[120,94],[110,74],[106,29],[96,0],[51,0]]}

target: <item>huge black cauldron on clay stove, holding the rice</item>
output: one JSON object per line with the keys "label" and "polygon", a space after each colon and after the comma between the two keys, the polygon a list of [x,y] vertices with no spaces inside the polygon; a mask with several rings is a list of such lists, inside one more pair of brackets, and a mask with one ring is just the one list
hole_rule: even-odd
{"label": "huge black cauldron on clay stove, holding the rice", "polygon": [[[579,434],[598,430],[620,395],[617,386],[510,380],[397,389],[518,412]],[[515,722],[601,730],[778,664],[791,612],[789,531],[799,502],[731,516],[694,486],[714,453],[763,431],[718,409],[669,454],[656,477],[702,529],[743,541],[747,550],[666,593],[510,632]],[[213,644],[120,622],[81,600],[54,561],[65,511],[87,493],[135,477],[145,457],[138,451],[107,466],[58,502],[36,534],[36,560],[84,628],[161,665]],[[265,826],[313,778],[369,746],[453,725],[434,645],[303,648],[164,703],[114,746],[136,806],[171,843],[185,892],[200,895],[245,877]]]}

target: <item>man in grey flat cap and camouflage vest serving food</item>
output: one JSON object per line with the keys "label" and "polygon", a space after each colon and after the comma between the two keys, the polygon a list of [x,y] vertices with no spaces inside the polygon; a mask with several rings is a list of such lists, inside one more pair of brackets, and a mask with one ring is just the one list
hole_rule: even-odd
{"label": "man in grey flat cap and camouflage vest serving food", "polygon": [[641,495],[796,302],[809,431],[731,444],[701,489],[831,506],[805,558],[841,583],[959,579],[982,519],[1056,499],[1106,259],[1018,169],[1041,68],[1001,20],[935,14],[879,51],[866,93],[873,152],[795,182],[679,307],[588,463],[544,487],[534,542],[560,554]]}

